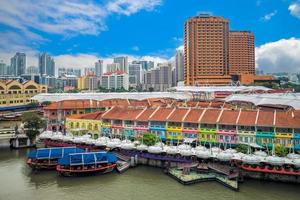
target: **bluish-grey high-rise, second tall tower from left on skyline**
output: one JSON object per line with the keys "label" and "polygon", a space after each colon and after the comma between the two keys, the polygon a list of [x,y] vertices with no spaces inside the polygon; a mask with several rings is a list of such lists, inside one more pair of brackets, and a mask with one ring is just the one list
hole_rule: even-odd
{"label": "bluish-grey high-rise, second tall tower from left on skyline", "polygon": [[55,76],[55,62],[47,53],[39,55],[39,71],[41,76]]}

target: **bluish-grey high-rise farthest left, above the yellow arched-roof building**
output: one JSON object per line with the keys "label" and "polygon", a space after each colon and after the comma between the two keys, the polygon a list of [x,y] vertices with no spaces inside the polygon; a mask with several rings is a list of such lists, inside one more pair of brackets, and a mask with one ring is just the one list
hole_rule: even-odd
{"label": "bluish-grey high-rise farthest left, above the yellow arched-roof building", "polygon": [[25,74],[26,70],[26,54],[17,52],[14,57],[10,59],[9,74],[13,76],[20,76]]}

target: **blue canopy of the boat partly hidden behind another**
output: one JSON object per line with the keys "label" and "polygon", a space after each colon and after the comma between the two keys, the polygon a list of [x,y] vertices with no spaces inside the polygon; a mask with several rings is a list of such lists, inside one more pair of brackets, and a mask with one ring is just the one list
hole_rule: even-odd
{"label": "blue canopy of the boat partly hidden behind another", "polygon": [[55,147],[55,148],[41,148],[32,150],[28,154],[31,159],[57,159],[62,158],[70,153],[83,153],[83,149],[77,147]]}

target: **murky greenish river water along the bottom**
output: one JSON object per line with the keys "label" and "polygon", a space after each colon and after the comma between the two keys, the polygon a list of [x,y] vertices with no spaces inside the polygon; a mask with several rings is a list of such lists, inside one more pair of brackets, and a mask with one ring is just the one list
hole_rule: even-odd
{"label": "murky greenish river water along the bottom", "polygon": [[299,200],[300,185],[246,180],[235,192],[216,182],[183,186],[161,169],[138,166],[123,174],[60,177],[31,172],[28,150],[0,149],[0,200]]}

